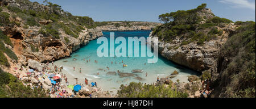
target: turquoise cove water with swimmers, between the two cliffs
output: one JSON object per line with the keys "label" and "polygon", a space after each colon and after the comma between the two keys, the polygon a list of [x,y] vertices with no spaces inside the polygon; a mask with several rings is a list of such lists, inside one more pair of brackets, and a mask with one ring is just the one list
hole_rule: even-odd
{"label": "turquoise cove water with swimmers, between the two cliffs", "polygon": [[[150,32],[151,31],[114,31],[115,37],[125,37],[126,41],[127,37],[148,37]],[[109,40],[110,32],[103,32],[103,34],[104,37],[108,38]],[[156,81],[156,78],[158,76],[166,77],[174,72],[174,70],[179,72],[179,74],[177,75],[177,77],[173,78],[172,81],[176,81],[177,79],[179,79],[180,82],[188,82],[188,76],[190,76],[191,74],[198,74],[193,70],[183,68],[182,66],[176,65],[171,61],[166,60],[165,58],[160,56],[160,54],[158,55],[158,62],[154,64],[148,64],[147,59],[152,57],[141,57],[141,46],[146,46],[145,43],[139,43],[139,57],[98,57],[97,48],[100,45],[101,44],[97,44],[97,39],[92,40],[89,42],[88,45],[85,45],[78,51],[72,53],[71,57],[56,61],[55,64],[59,66],[63,65],[63,73],[67,74],[67,76],[71,78],[79,78],[80,83],[84,84],[84,79],[88,78],[89,83],[96,81],[98,83],[98,87],[109,91],[116,91],[121,84],[128,85],[132,81],[153,83]],[[119,44],[115,44],[115,47],[117,47],[118,45]],[[73,60],[74,58],[76,58],[77,60]],[[89,61],[89,59],[90,62],[86,62],[86,60]],[[96,60],[97,63],[94,62],[94,60]],[[113,62],[113,64],[111,62]],[[146,65],[144,65],[145,63]],[[123,68],[123,64],[127,64],[127,67]],[[73,71],[73,66],[75,66],[76,68],[75,71]],[[106,66],[108,66],[110,69],[108,70]],[[79,73],[80,68],[82,73]],[[118,74],[116,76],[108,76],[106,74],[108,72],[117,72],[117,70],[123,73],[131,73],[131,70],[133,69],[142,69],[144,72],[134,73],[137,74],[134,77],[122,78],[119,77]],[[99,72],[100,75],[97,75],[97,72]],[[146,72],[148,74],[147,77]],[[142,80],[138,80],[135,77],[141,77]],[[75,79],[69,79],[69,83],[75,83]]]}

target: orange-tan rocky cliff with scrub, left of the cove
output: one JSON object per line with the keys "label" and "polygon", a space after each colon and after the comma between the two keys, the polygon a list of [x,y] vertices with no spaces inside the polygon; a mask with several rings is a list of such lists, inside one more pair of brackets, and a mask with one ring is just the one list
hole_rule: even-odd
{"label": "orange-tan rocky cliff with scrub, left of the cove", "polygon": [[[45,6],[30,1],[3,0],[1,7],[1,13],[9,14],[11,22],[6,25],[2,24],[1,31],[10,37],[13,43],[11,49],[24,65],[29,59],[46,62],[68,57],[82,45],[88,44],[89,40],[103,35],[101,30],[88,28],[85,24],[67,18],[68,16],[65,15],[67,13],[56,10],[57,6],[51,4]],[[49,19],[43,18],[40,13],[46,11],[48,13],[44,14],[49,14]],[[51,15],[57,17],[51,18]],[[32,21],[30,21],[31,19]],[[35,24],[30,24],[30,22]],[[60,24],[61,27],[53,28],[56,24]],[[47,26],[52,26],[52,28],[47,28]],[[72,30],[78,27],[81,28],[79,31]],[[54,29],[57,32],[57,37],[53,36],[54,32],[51,32]],[[47,33],[48,31],[49,33]]]}

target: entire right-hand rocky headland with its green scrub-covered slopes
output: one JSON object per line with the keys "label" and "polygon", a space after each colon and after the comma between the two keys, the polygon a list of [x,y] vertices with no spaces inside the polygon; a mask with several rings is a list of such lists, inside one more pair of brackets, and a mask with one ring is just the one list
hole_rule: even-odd
{"label": "entire right-hand rocky headland with its green scrub-covered slopes", "polygon": [[255,22],[233,23],[205,7],[159,15],[166,23],[150,37],[162,56],[210,79],[212,97],[255,97]]}

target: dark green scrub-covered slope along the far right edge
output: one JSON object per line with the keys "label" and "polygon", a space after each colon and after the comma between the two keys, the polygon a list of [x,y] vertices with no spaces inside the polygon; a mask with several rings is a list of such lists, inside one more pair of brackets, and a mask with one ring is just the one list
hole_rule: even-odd
{"label": "dark green scrub-covered slope along the far right edge", "polygon": [[[255,22],[240,24],[220,50],[220,65],[225,69],[219,71],[217,94],[255,98]],[[223,61],[224,58],[228,58],[228,63]]]}

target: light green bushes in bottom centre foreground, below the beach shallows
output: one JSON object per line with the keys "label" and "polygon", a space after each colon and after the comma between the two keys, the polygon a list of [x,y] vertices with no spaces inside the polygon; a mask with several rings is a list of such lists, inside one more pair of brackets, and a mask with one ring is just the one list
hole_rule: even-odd
{"label": "light green bushes in bottom centre foreground, below the beach shallows", "polygon": [[181,93],[172,89],[172,86],[143,85],[141,82],[130,82],[129,86],[121,85],[117,92],[122,98],[185,98],[187,93]]}

